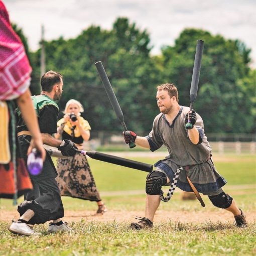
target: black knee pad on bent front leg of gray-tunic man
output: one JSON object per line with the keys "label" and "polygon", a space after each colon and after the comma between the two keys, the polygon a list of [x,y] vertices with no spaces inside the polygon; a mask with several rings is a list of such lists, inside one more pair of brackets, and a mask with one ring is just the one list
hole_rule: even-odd
{"label": "black knee pad on bent front leg of gray-tunic man", "polygon": [[146,193],[149,195],[160,195],[162,186],[167,183],[166,174],[153,171],[148,174],[146,181]]}

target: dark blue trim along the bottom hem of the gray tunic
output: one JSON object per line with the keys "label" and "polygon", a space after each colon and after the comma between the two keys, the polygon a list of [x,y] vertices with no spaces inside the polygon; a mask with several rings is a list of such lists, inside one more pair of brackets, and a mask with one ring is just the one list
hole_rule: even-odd
{"label": "dark blue trim along the bottom hem of the gray tunic", "polygon": [[[154,166],[163,170],[165,172],[165,174],[167,175],[167,177],[172,182],[172,180],[174,178],[174,172],[172,171],[170,166],[163,163],[162,160],[159,160],[157,163],[154,164]],[[227,182],[223,177],[219,177],[215,182],[212,182],[212,183],[198,184],[198,183],[193,182],[193,185],[196,187],[198,192],[204,193],[204,192],[217,191],[218,189],[223,187],[226,183]],[[193,192],[193,190],[190,187],[188,182],[182,182],[179,179],[177,182],[177,187],[186,192]]]}

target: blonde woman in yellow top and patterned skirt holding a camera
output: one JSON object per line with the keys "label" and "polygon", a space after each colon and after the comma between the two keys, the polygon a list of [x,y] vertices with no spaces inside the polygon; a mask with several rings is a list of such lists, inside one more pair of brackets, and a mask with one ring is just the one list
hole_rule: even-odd
{"label": "blonde woman in yellow top and patterned skirt holding a camera", "polygon": [[[87,120],[80,116],[83,106],[75,99],[66,103],[64,117],[57,123],[55,138],[71,140],[78,149],[83,149],[83,141],[90,138],[91,127]],[[86,156],[76,154],[73,157],[58,158],[56,178],[62,196],[71,196],[97,202],[96,214],[104,214],[107,209],[99,196]]]}

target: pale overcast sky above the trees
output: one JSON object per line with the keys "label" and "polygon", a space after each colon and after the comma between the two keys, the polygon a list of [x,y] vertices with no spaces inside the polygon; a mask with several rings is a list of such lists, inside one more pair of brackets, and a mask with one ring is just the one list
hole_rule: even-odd
{"label": "pale overcast sky above the trees", "polygon": [[[256,0],[4,0],[10,19],[21,27],[31,50],[45,39],[74,38],[90,25],[111,29],[127,17],[150,34],[153,54],[173,45],[184,28],[199,28],[251,48],[256,67]],[[205,42],[207,44],[207,42]],[[196,43],[195,43],[196,44]]]}

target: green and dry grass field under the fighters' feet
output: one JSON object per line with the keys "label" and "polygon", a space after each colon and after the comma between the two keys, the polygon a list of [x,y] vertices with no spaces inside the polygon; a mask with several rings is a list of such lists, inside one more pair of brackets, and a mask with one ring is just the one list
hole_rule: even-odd
{"label": "green and dry grass field under the fighters' feet", "polygon": [[[133,159],[152,164],[159,160]],[[0,255],[255,255],[255,159],[249,155],[217,156],[214,159],[217,170],[228,181],[224,190],[248,214],[247,228],[234,227],[233,219],[212,206],[206,196],[203,196],[206,207],[202,208],[197,201],[181,201],[177,190],[170,202],[160,204],[156,215],[158,221],[153,229],[131,230],[130,219],[134,217],[131,215],[144,211],[143,190],[147,173],[89,159],[97,187],[109,209],[106,216],[113,211],[117,220],[76,218],[69,221],[74,229],[72,235],[48,235],[48,224],[35,225],[35,230],[43,235],[32,238],[11,234],[8,231],[10,221],[6,221],[8,216],[0,214],[3,216],[2,220],[0,217]],[[138,193],[129,195],[125,191]],[[67,212],[77,212],[78,215],[96,209],[95,203],[69,197],[63,197],[63,203]],[[1,199],[0,211],[5,214],[15,212],[12,201]],[[199,214],[202,220],[193,222]],[[175,217],[177,215],[179,218]],[[211,216],[218,216],[221,221],[212,220]],[[122,221],[118,221],[120,218]]]}

